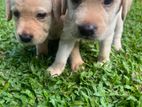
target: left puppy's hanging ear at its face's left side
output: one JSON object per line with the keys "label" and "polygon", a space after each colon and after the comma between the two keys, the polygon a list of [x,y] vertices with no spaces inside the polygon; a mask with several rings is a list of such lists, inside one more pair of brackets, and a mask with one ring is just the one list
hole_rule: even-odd
{"label": "left puppy's hanging ear at its face's left side", "polygon": [[6,19],[10,21],[12,19],[12,12],[11,12],[11,0],[5,0],[5,7],[6,7]]}

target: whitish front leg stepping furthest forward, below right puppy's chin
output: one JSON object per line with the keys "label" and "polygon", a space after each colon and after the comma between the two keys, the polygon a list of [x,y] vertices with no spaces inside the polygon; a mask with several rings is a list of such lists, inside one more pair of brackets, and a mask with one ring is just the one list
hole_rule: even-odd
{"label": "whitish front leg stepping furthest forward, below right puppy's chin", "polygon": [[74,47],[75,39],[61,39],[54,63],[47,69],[52,76],[58,76],[65,68],[67,59]]}

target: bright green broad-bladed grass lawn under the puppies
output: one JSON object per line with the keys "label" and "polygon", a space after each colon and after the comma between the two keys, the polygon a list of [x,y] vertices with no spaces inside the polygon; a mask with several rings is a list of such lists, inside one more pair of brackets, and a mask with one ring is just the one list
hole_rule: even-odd
{"label": "bright green broad-bladed grass lawn under the puppies", "polygon": [[85,70],[52,78],[46,73],[53,56],[35,58],[14,36],[0,3],[0,107],[142,107],[142,2],[135,0],[123,33],[123,51],[111,62],[96,63],[98,45],[83,42]]}

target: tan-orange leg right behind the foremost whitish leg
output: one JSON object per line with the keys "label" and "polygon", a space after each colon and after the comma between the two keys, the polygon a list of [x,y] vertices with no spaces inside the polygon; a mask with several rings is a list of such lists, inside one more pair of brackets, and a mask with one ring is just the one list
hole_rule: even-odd
{"label": "tan-orange leg right behind the foremost whitish leg", "polygon": [[77,71],[80,67],[80,65],[82,65],[84,63],[84,61],[81,58],[80,55],[80,51],[79,51],[79,42],[77,41],[72,53],[70,55],[70,60],[71,60],[71,68],[73,71]]}

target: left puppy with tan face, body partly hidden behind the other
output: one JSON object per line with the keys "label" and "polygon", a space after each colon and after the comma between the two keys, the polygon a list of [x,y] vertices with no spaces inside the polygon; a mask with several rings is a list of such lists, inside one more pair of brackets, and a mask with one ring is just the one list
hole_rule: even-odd
{"label": "left puppy with tan face, body partly hidden behind the other", "polygon": [[16,22],[16,37],[46,54],[47,39],[58,39],[63,28],[61,0],[6,0],[6,17]]}

